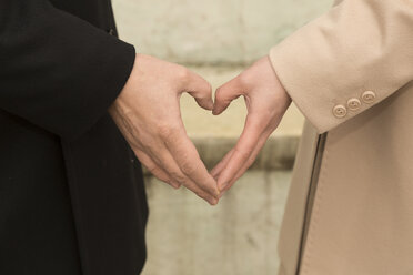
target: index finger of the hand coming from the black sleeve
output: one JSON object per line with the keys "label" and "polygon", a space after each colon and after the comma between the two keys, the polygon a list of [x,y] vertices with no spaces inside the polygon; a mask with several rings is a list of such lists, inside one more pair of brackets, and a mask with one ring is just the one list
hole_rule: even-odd
{"label": "index finger of the hand coming from the black sleeve", "polygon": [[185,176],[209,194],[218,197],[220,191],[216,181],[208,172],[192,141],[188,138],[183,124],[164,140],[168,150]]}

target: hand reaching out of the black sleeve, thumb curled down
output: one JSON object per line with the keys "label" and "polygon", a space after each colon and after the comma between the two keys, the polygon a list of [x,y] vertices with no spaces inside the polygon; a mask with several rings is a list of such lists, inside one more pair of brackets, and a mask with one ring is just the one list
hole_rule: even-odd
{"label": "hand reaching out of the black sleeve, thumb curled down", "polygon": [[187,135],[179,100],[190,93],[212,110],[211,85],[184,67],[137,54],[132,73],[109,112],[148,170],[178,189],[183,184],[214,205],[219,190]]}

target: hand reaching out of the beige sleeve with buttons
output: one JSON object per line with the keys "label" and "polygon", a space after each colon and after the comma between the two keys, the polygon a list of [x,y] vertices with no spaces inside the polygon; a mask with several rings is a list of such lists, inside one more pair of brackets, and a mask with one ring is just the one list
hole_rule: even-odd
{"label": "hand reaching out of the beige sleeve with buttons", "polygon": [[223,193],[252,165],[265,141],[279,125],[291,99],[278,79],[269,57],[256,61],[239,77],[216,90],[213,114],[222,113],[240,95],[248,115],[235,145],[211,171]]}

